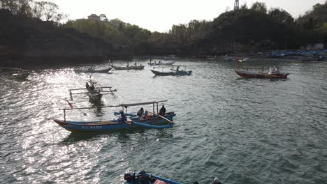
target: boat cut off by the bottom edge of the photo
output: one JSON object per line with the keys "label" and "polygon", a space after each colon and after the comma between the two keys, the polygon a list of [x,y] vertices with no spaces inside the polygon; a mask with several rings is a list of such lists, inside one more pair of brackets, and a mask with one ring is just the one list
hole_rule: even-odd
{"label": "boat cut off by the bottom edge of the photo", "polygon": [[149,178],[149,184],[182,184],[180,182],[173,181],[167,178],[147,174],[145,173],[145,171],[139,171],[138,173],[135,173],[133,171],[126,171],[126,173],[124,174],[124,180],[126,181],[126,184],[138,184],[140,183],[140,177],[144,176]]}

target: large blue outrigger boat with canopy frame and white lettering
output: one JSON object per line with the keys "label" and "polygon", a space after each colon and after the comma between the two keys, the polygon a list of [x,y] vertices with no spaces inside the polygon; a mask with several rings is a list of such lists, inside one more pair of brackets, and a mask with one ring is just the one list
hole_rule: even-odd
{"label": "large blue outrigger boat with canopy frame and white lettering", "polygon": [[[71,109],[61,109],[64,111],[64,120],[52,119],[55,123],[60,125],[62,128],[70,132],[106,132],[112,130],[124,130],[124,129],[136,129],[136,128],[173,128],[173,117],[176,116],[174,112],[168,112],[164,115],[158,114],[158,103],[166,102],[153,101],[153,102],[141,102],[131,104],[121,104],[103,107],[80,107]],[[152,105],[152,112],[145,112],[143,120],[140,120],[135,113],[127,113],[128,107],[141,106],[141,105]],[[157,113],[155,112],[154,106],[157,105]],[[66,112],[70,110],[81,110],[81,109],[94,109],[94,108],[114,108],[121,107],[122,110],[114,112],[117,119],[108,121],[66,121]],[[125,110],[125,113],[124,113]],[[119,114],[120,116],[118,116]],[[124,114],[124,116],[122,116]]]}

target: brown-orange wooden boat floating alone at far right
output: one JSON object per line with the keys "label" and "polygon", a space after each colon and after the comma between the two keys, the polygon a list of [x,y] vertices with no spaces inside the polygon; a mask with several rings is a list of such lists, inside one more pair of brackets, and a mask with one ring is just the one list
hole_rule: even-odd
{"label": "brown-orange wooden boat floating alone at far right", "polygon": [[240,77],[249,77],[249,78],[268,78],[268,79],[286,79],[289,73],[279,72],[278,68],[269,68],[268,71],[262,70],[249,70],[249,68],[243,68],[242,70],[238,69],[235,72],[240,75]]}

